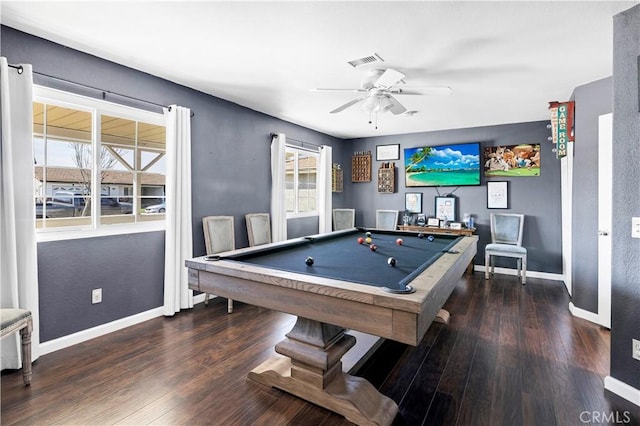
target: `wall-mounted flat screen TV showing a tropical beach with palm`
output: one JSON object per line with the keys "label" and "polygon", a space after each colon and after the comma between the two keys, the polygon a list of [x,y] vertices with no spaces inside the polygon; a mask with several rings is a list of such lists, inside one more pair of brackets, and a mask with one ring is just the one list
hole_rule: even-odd
{"label": "wall-mounted flat screen TV showing a tropical beach with palm", "polygon": [[405,148],[404,171],[407,187],[480,185],[480,143]]}

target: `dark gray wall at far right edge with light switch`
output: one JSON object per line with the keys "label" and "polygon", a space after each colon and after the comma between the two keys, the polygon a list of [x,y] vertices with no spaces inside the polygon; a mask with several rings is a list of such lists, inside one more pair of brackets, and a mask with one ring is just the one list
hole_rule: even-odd
{"label": "dark gray wall at far right edge with light switch", "polygon": [[640,216],[640,5],[614,17],[613,222],[611,376],[640,390],[640,361],[631,339],[640,339],[640,240],[631,217]]}

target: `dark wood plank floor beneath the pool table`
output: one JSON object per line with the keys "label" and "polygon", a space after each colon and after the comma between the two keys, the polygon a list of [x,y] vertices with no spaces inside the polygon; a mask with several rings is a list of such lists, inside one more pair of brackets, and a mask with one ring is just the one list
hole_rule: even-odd
{"label": "dark wood plank floor beneath the pool table", "polygon": [[[385,342],[358,374],[398,403],[396,425],[639,424],[639,407],[603,389],[609,332],[568,304],[560,282],[465,276],[448,325],[417,347]],[[44,355],[28,388],[3,372],[1,423],[349,424],[246,379],[293,323],[240,303],[228,315],[215,299]]]}

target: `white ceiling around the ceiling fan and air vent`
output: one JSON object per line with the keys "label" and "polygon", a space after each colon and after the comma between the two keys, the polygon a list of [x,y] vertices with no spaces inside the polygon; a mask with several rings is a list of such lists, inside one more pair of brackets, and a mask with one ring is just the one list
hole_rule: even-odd
{"label": "white ceiling around the ceiling fan and air vent", "polygon": [[[546,120],[549,101],[612,75],[612,17],[637,3],[3,0],[0,21],[353,138]],[[358,105],[329,114],[358,94],[313,89],[358,88],[371,67],[347,61],[373,53],[407,86],[452,94],[398,96],[418,113],[380,114],[377,129]]]}

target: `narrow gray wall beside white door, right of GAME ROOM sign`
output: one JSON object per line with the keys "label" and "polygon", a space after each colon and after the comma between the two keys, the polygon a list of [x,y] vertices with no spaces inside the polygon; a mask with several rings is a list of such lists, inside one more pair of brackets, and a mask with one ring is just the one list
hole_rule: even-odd
{"label": "narrow gray wall beside white door, right of GAME ROOM sign", "polygon": [[[574,90],[573,232],[571,300],[598,312],[598,117],[613,111],[613,79]],[[588,261],[586,261],[588,259]]]}

